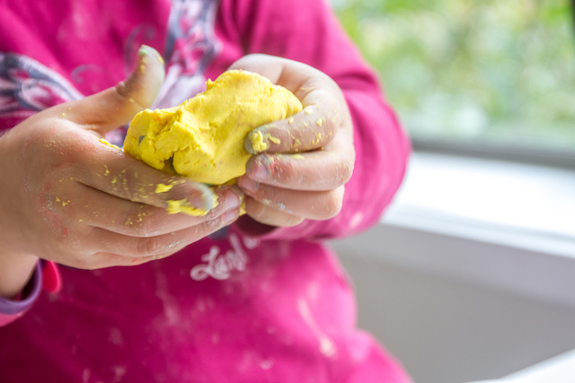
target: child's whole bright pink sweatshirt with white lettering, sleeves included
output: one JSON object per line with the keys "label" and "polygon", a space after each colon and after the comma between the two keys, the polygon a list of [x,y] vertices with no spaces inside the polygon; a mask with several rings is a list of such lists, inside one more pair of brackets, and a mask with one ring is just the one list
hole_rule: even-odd
{"label": "child's whole bright pink sweatshirt with white lettering, sleeves included", "polygon": [[[57,269],[45,263],[51,292],[38,293],[39,268],[22,292],[27,303],[0,301],[0,322],[22,317],[0,327],[0,382],[409,382],[394,358],[356,328],[349,279],[318,240],[376,223],[409,153],[376,77],[329,6],[0,1],[0,135],[41,109],[119,82],[141,44],[166,60],[158,107],[193,96],[207,77],[252,52],[330,75],[355,126],[357,162],[343,209],[332,220],[260,237],[232,226],[145,265],[59,266],[61,289]],[[120,142],[122,132],[109,138]]]}

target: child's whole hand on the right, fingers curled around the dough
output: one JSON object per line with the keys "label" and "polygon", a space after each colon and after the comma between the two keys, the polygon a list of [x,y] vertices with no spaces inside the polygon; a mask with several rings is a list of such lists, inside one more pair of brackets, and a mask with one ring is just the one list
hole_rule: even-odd
{"label": "child's whole hand on the right, fingers curled around the dough", "polygon": [[250,55],[232,68],[268,77],[304,106],[293,118],[260,126],[246,138],[248,152],[254,153],[251,135],[258,132],[269,144],[238,178],[248,215],[270,226],[335,216],[355,160],[353,126],[339,86],[311,66],[279,57]]}

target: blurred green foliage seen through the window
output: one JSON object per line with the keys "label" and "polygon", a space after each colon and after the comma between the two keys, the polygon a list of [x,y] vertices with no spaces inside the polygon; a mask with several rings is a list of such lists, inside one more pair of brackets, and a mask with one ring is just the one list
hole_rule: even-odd
{"label": "blurred green foliage seen through the window", "polygon": [[414,138],[575,150],[568,0],[332,0]]}

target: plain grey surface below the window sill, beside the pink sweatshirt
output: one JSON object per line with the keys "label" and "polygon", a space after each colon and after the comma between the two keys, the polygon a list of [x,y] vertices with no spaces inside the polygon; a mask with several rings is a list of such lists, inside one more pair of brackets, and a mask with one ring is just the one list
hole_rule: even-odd
{"label": "plain grey surface below the window sill, beside the pink sweatshirt", "polygon": [[499,378],[575,348],[573,307],[334,248],[356,285],[358,325],[417,383]]}

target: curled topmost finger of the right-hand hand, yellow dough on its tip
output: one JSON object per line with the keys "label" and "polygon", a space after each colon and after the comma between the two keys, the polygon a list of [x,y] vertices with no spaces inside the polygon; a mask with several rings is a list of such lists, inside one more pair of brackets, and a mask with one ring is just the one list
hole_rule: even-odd
{"label": "curled topmost finger of the right-hand hand, yellow dough on its tip", "polygon": [[[329,143],[340,126],[351,126],[347,103],[339,86],[312,66],[267,55],[249,55],[232,65],[261,74],[272,83],[292,91],[304,110],[296,115],[260,126],[246,136],[244,146],[265,152],[306,152]],[[347,123],[347,124],[346,124]]]}

